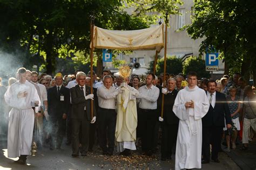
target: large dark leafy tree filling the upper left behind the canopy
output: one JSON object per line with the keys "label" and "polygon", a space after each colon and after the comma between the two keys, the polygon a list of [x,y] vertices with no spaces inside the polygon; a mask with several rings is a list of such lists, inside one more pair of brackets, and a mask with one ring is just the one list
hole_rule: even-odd
{"label": "large dark leafy tree filling the upper left behind the canopy", "polygon": [[[90,15],[105,29],[132,30],[149,27],[142,17],[128,15],[121,1],[0,1],[0,43],[7,52],[25,51],[26,57],[44,59],[46,73],[56,69],[56,58],[86,60],[89,56]],[[95,57],[99,57],[96,50]],[[84,56],[81,57],[81,54]],[[25,63],[24,63],[25,64]]]}

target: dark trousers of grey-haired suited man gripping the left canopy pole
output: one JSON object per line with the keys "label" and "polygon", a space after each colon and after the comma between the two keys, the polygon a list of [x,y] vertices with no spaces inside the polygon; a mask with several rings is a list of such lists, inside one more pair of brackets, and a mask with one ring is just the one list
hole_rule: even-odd
{"label": "dark trousers of grey-haired suited man gripping the left canopy pole", "polygon": [[87,120],[86,112],[83,119],[71,119],[72,129],[72,153],[79,154],[79,144],[82,145],[80,153],[86,153],[89,148],[90,120]]}

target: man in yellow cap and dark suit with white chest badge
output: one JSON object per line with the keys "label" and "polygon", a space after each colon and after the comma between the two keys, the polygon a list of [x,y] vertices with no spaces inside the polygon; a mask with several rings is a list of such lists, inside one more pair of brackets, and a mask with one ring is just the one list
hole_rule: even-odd
{"label": "man in yellow cap and dark suit with white chest badge", "polygon": [[56,86],[48,90],[48,111],[51,123],[50,149],[60,149],[66,132],[66,117],[70,106],[70,92],[64,87],[62,73],[55,76]]}

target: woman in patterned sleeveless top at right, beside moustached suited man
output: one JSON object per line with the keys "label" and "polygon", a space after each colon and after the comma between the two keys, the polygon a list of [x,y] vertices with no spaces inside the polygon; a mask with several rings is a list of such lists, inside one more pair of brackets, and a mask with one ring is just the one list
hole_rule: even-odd
{"label": "woman in patterned sleeveless top at right, beside moustached suited man", "polygon": [[240,123],[239,123],[239,110],[240,103],[239,97],[236,96],[237,88],[235,86],[230,86],[229,89],[230,94],[227,96],[228,107],[230,108],[230,114],[233,122],[233,128],[227,130],[224,128],[226,134],[226,142],[227,142],[227,152],[230,152],[230,140],[232,142],[232,148],[235,149],[235,140],[237,139],[237,133],[240,131]]}

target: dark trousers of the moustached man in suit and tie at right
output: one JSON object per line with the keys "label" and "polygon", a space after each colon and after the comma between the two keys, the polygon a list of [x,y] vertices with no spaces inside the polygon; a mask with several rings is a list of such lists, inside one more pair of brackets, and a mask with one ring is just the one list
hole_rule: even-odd
{"label": "dark trousers of the moustached man in suit and tie at right", "polygon": [[210,144],[212,144],[212,160],[218,159],[220,142],[223,134],[223,127],[210,126],[203,127],[202,154],[205,161],[210,161]]}

